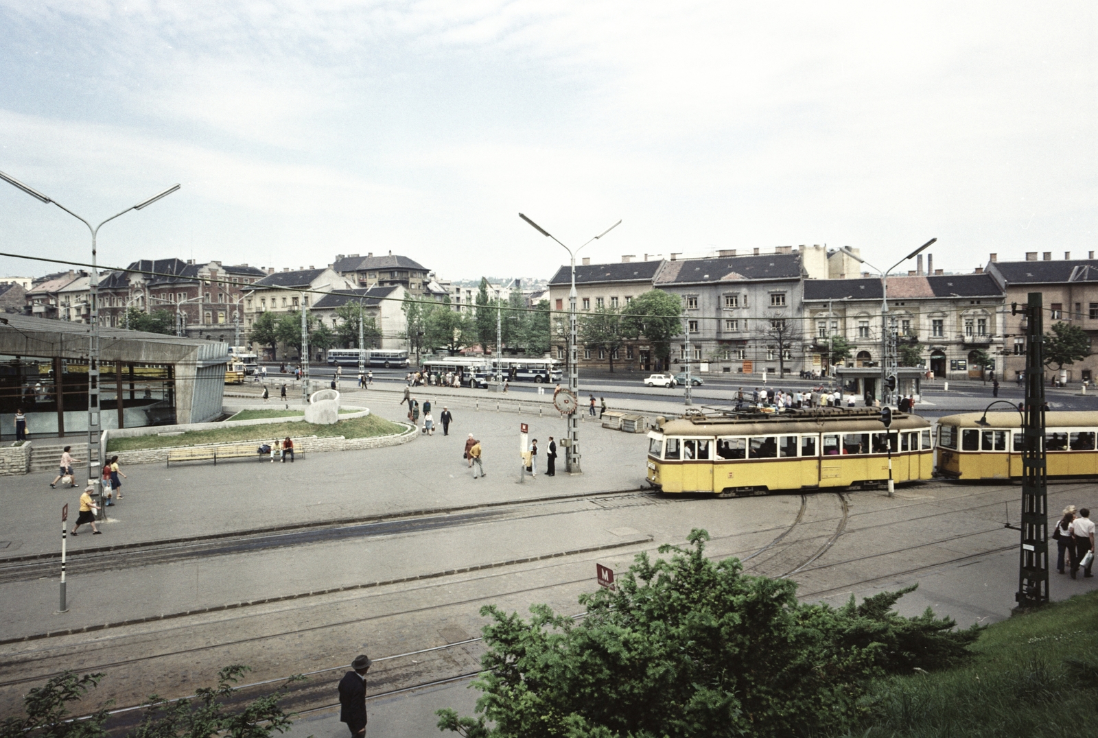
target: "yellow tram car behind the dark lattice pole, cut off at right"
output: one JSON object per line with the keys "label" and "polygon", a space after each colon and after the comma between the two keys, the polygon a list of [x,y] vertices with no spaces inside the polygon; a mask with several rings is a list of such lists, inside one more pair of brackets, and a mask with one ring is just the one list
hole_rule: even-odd
{"label": "yellow tram car behind the dark lattice pole, cut off at right", "polygon": [[[954,479],[1020,479],[1020,413],[948,415],[938,421],[938,473]],[[1044,449],[1050,477],[1098,474],[1098,413],[1045,413]]]}

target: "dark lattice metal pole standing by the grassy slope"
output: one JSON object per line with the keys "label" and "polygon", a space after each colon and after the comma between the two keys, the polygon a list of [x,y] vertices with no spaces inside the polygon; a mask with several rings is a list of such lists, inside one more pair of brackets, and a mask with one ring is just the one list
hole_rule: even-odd
{"label": "dark lattice metal pole standing by the grassy slope", "polygon": [[[1042,293],[1030,292],[1026,315],[1026,409],[1022,413],[1022,519],[1018,610],[1049,602],[1049,479],[1044,448],[1044,315]],[[1018,305],[1013,305],[1017,314]]]}

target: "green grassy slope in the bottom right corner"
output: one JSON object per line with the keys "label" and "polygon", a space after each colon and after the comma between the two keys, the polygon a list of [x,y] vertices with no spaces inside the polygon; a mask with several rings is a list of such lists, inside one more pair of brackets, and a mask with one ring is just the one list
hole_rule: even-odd
{"label": "green grassy slope in the bottom right corner", "polygon": [[957,669],[882,680],[866,718],[847,735],[1098,735],[1098,592],[996,623],[973,650]]}

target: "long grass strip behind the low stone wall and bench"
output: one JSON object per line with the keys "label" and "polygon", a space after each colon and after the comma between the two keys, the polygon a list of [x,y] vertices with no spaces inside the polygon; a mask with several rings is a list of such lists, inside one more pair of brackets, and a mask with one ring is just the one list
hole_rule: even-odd
{"label": "long grass strip behind the low stone wall and bench", "polygon": [[[284,417],[284,415],[283,415]],[[404,426],[386,421],[377,415],[354,417],[339,421],[334,425],[313,425],[312,423],[271,423],[269,425],[245,425],[233,428],[214,428],[212,431],[188,431],[180,436],[135,436],[133,438],[111,438],[107,445],[108,451],[131,451],[142,448],[165,448],[168,446],[195,446],[199,444],[233,444],[239,441],[271,440],[287,436],[344,436],[346,438],[372,438],[390,436],[404,431]]]}

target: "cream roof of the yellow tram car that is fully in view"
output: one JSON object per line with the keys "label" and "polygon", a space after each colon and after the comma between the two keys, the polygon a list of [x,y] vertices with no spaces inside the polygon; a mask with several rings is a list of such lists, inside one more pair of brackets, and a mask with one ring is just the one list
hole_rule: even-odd
{"label": "cream roof of the yellow tram car that is fully in view", "polygon": [[[1098,416],[1098,413],[1095,413]],[[889,431],[921,431],[930,422],[920,415],[893,412]],[[750,415],[696,415],[676,418],[663,424],[668,436],[766,436],[783,433],[884,433],[881,415],[873,411],[855,412],[799,412],[772,416]]]}

